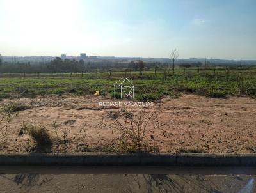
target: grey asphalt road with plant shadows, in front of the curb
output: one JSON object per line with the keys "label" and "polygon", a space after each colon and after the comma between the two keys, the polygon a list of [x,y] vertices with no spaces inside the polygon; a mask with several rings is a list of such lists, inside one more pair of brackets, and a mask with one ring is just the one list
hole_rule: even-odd
{"label": "grey asphalt road with plant shadows, in front of the curb", "polygon": [[256,167],[0,166],[0,192],[256,192]]}

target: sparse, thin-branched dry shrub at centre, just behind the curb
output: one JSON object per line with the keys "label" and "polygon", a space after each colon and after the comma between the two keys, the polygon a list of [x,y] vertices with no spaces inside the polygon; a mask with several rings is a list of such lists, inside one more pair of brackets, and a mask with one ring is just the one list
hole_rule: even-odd
{"label": "sparse, thin-branched dry shrub at centre, just behind the curb", "polygon": [[[129,112],[125,113],[129,114]],[[123,115],[125,115],[123,113]],[[157,112],[146,112],[141,108],[140,112],[134,116],[123,116],[115,118],[114,123],[104,123],[105,127],[115,128],[120,132],[120,136],[115,144],[115,150],[121,153],[147,153],[157,151],[151,141],[147,140],[149,126],[159,128]],[[151,135],[153,136],[153,135]],[[151,137],[154,139],[154,137]]]}

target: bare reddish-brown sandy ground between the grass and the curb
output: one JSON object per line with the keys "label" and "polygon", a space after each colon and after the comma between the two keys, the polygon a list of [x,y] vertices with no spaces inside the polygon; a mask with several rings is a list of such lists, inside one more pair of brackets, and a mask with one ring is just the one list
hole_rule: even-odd
{"label": "bare reddish-brown sandy ground between the grass and the curb", "polygon": [[[19,111],[19,116],[12,120],[8,131],[13,134],[1,133],[1,152],[35,151],[28,134],[19,136],[21,123],[43,124],[56,141],[64,139],[58,145],[53,144],[53,152],[104,151],[102,146],[112,144],[119,135],[114,128],[102,125],[102,119],[111,125],[114,120],[108,117],[109,111],[120,109],[99,106],[99,102],[116,102],[110,98],[37,96],[3,100],[0,105],[17,102],[30,105],[31,109]],[[127,111],[136,114],[139,109],[128,107]],[[149,126],[147,139],[161,152],[178,153],[185,149],[205,153],[256,153],[255,98],[183,95],[163,98],[148,111],[155,109],[161,111],[158,118],[161,127]]]}

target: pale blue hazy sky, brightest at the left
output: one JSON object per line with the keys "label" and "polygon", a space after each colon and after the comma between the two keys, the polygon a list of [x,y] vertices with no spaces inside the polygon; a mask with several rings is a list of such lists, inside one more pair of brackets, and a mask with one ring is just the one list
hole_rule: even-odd
{"label": "pale blue hazy sky, brightest at the left", "polygon": [[255,0],[0,0],[3,56],[256,59]]}

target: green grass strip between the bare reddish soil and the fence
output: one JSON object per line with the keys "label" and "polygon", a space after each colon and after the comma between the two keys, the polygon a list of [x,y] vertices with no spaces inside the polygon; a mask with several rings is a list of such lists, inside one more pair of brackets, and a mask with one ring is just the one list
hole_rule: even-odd
{"label": "green grass strip between the bare reddish soil and the fence", "polygon": [[[193,93],[211,98],[225,98],[227,96],[256,96],[256,74],[248,70],[244,74],[239,71],[226,72],[221,70],[213,75],[212,71],[198,73],[189,70],[168,75],[166,71],[155,76],[152,72],[131,72],[128,77],[134,84],[136,100],[154,101],[163,96],[179,97],[182,93]],[[114,96],[113,85],[123,73],[86,73],[82,78],[74,77],[6,77],[0,79],[0,98],[33,97],[36,95],[93,95],[99,91],[100,96]],[[130,73],[128,73],[130,75]]]}

